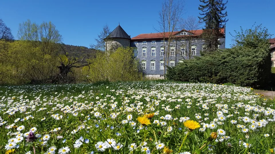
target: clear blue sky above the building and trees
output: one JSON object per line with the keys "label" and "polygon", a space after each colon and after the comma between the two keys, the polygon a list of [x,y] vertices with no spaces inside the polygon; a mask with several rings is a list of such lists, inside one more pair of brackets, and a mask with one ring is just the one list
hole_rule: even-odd
{"label": "clear blue sky above the building and trees", "polygon": [[[141,33],[156,33],[153,27],[158,27],[158,12],[161,0],[132,1],[132,0],[101,0],[101,1],[72,1],[72,0],[9,0],[0,5],[0,19],[11,28],[17,39],[18,24],[27,19],[35,23],[52,21],[63,36],[65,44],[87,46],[95,43],[94,38],[108,24],[111,31],[120,23],[121,27],[131,37]],[[199,16],[199,0],[186,0],[188,16]],[[230,47],[229,32],[249,29],[256,22],[267,27],[271,34],[275,34],[274,0],[229,0],[227,3],[226,41]],[[275,37],[275,35],[273,35]]]}

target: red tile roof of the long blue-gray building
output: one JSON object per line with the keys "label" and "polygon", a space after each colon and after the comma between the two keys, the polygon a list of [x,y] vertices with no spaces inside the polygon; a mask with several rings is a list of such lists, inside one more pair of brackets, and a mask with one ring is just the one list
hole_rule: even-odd
{"label": "red tile roof of the long blue-gray building", "polygon": [[[182,31],[186,31],[186,30],[182,30]],[[176,32],[173,32],[172,35],[176,35],[182,31],[176,31]],[[223,34],[224,33],[224,29],[221,28],[221,33]],[[195,32],[192,32],[192,31],[186,31],[186,32],[189,32],[189,33],[193,33],[195,36],[200,36],[202,33],[203,33],[203,30],[202,29],[199,29],[199,30],[196,30]],[[165,33],[165,36],[168,37],[168,32]],[[180,36],[178,36],[180,37]],[[153,38],[163,38],[163,33],[148,33],[148,34],[140,34],[140,35],[137,35],[136,37],[133,37],[131,38],[132,40],[140,40],[140,39],[153,39]]]}

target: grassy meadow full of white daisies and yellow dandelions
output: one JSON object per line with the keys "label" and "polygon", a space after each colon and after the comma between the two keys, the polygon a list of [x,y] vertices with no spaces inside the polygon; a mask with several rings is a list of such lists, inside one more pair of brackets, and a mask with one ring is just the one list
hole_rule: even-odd
{"label": "grassy meadow full of white daisies and yellow dandelions", "polygon": [[274,100],[205,83],[0,87],[0,153],[273,153]]}

